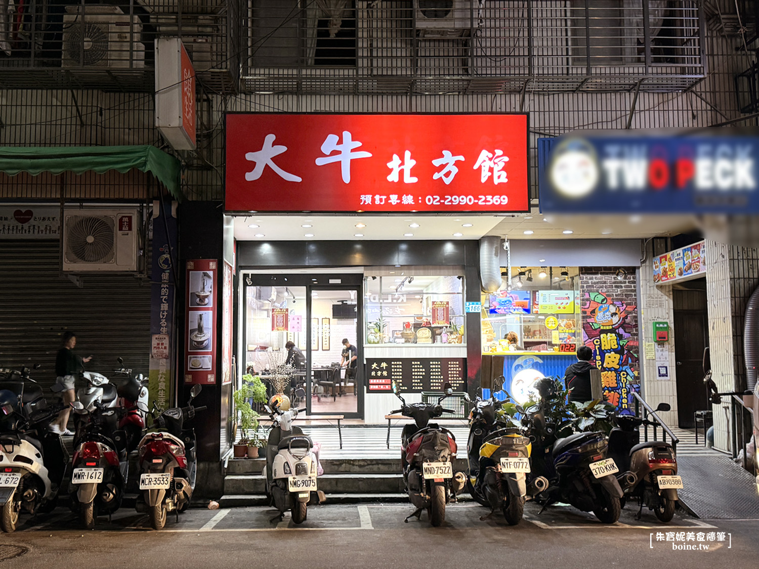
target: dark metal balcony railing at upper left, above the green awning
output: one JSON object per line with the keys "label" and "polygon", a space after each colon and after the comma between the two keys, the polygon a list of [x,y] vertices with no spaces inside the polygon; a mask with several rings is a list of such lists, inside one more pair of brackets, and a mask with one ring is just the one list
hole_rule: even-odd
{"label": "dark metal balcony railing at upper left, above the green awning", "polygon": [[0,17],[0,88],[154,89],[154,42],[180,37],[197,80],[235,90],[244,0],[16,3]]}

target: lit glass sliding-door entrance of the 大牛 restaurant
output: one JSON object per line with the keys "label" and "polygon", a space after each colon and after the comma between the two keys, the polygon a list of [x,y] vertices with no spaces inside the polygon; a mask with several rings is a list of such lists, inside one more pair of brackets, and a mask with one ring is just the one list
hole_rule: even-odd
{"label": "lit glass sliding-door entrance of the \u5927\u725b restaurant", "polygon": [[285,392],[306,390],[298,407],[363,418],[361,278],[243,272],[247,372],[261,376],[273,393],[276,370],[291,366]]}

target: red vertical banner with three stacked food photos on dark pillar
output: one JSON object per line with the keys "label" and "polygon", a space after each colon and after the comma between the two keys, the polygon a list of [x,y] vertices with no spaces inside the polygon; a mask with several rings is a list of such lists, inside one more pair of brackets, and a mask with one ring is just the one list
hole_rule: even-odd
{"label": "red vertical banner with three stacked food photos on dark pillar", "polygon": [[187,261],[184,383],[216,383],[216,273],[219,262]]}

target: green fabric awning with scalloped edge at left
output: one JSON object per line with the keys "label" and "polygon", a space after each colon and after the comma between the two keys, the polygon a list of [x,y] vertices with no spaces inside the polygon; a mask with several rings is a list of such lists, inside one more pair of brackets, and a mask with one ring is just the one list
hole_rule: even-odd
{"label": "green fabric awning with scalloped edge at left", "polygon": [[125,174],[132,168],[150,172],[181,201],[181,165],[174,156],[155,146],[0,146],[0,171],[9,176],[44,171],[83,174],[88,170],[105,174],[116,170]]}

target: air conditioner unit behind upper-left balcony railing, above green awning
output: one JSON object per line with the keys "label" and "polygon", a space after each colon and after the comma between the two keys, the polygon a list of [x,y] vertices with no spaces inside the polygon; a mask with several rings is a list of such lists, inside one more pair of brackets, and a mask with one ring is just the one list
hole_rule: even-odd
{"label": "air conditioner unit behind upper-left balcony railing, above green awning", "polygon": [[142,23],[118,6],[66,6],[61,67],[144,68]]}

